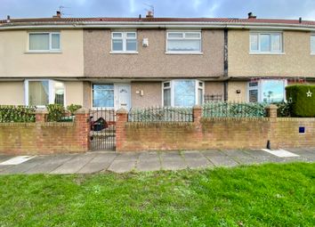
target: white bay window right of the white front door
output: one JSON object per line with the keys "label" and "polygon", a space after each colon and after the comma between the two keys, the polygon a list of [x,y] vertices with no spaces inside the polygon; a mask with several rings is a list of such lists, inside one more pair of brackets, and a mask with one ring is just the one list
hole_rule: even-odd
{"label": "white bay window right of the white front door", "polygon": [[163,82],[163,105],[192,107],[202,104],[204,83],[195,79],[175,79]]}

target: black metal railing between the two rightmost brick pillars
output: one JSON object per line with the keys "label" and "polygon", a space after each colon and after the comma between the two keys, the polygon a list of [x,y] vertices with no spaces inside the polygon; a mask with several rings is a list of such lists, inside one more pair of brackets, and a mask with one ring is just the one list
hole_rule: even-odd
{"label": "black metal railing between the two rightmost brick pillars", "polygon": [[266,105],[251,102],[208,102],[203,105],[204,118],[263,118]]}

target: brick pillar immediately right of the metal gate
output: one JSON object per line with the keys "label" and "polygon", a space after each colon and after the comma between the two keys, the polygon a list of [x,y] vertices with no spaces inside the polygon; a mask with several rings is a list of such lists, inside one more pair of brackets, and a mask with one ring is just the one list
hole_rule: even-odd
{"label": "brick pillar immediately right of the metal gate", "polygon": [[116,150],[124,150],[125,141],[125,123],[128,121],[128,111],[126,109],[118,109],[116,112]]}

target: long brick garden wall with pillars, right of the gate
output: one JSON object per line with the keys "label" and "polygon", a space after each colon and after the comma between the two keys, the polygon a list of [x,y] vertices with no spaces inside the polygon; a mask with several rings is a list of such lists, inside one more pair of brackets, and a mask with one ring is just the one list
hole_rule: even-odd
{"label": "long brick garden wall with pillars, right of the gate", "polygon": [[[201,118],[195,107],[191,123],[127,122],[117,111],[117,151],[210,150],[315,147],[315,118],[277,118],[271,105],[269,118]],[[305,133],[299,134],[299,127]]]}

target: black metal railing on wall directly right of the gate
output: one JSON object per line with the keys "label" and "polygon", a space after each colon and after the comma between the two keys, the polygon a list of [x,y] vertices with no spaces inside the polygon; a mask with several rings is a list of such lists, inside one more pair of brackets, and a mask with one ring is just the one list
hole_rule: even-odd
{"label": "black metal railing on wall directly right of the gate", "polygon": [[152,107],[145,109],[130,109],[130,122],[193,122],[191,108]]}

